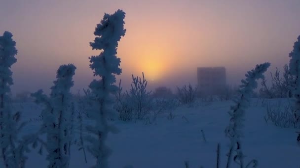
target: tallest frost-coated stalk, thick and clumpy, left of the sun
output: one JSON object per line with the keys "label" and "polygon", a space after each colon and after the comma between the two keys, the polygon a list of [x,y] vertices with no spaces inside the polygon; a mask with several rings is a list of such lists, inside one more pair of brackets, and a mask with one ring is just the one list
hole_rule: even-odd
{"label": "tallest frost-coated stalk, thick and clumpy, left of the sun", "polygon": [[117,91],[115,75],[120,75],[122,70],[119,68],[120,58],[116,56],[118,42],[125,35],[124,29],[125,12],[117,10],[110,15],[105,13],[100,24],[94,31],[94,42],[90,43],[93,50],[103,50],[98,56],[91,56],[90,68],[94,76],[99,76],[100,80],[93,80],[89,85],[94,96],[95,104],[89,112],[89,116],[95,122],[86,128],[91,133],[86,137],[90,143],[87,149],[96,158],[95,168],[108,168],[108,157],[110,150],[105,144],[109,132],[116,131],[112,125],[109,125],[107,119],[116,112],[110,104],[113,99],[110,94]]}

